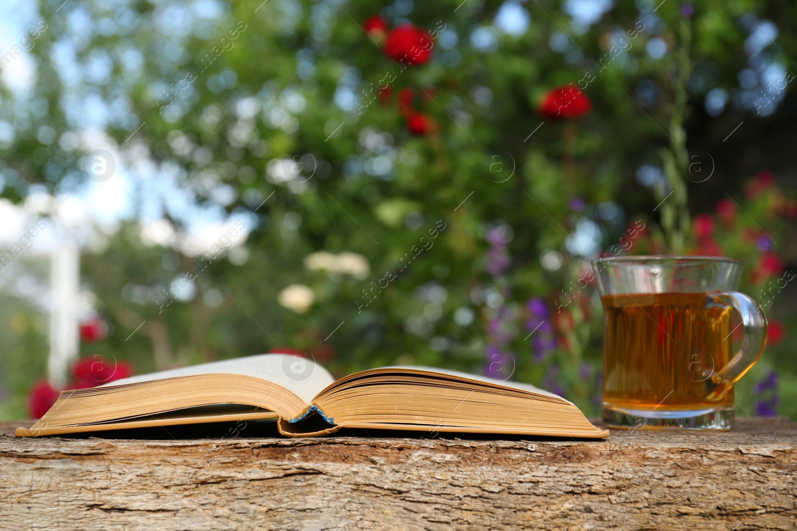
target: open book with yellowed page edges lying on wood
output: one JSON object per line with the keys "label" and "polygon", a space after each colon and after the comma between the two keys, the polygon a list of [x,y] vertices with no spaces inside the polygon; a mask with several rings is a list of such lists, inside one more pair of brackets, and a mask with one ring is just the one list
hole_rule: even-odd
{"label": "open book with yellowed page edges lying on wood", "polygon": [[516,382],[427,367],[335,381],[314,361],[260,354],[61,391],[19,437],[277,418],[282,435],[340,428],[606,437],[567,400]]}

